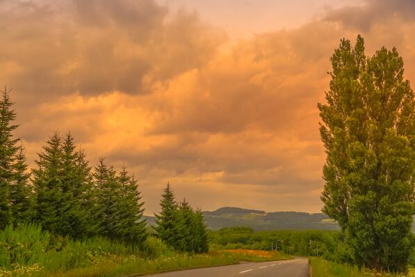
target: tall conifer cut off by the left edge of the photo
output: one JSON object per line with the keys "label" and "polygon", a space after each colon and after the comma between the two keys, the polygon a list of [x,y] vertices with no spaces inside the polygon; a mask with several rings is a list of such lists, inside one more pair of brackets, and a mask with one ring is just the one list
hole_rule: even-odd
{"label": "tall conifer cut off by the left edge of the photo", "polygon": [[0,92],[0,229],[3,229],[13,221],[10,189],[14,182],[13,166],[18,149],[16,143],[19,139],[13,138],[13,131],[18,125],[13,124],[16,113],[12,109],[10,91],[4,88]]}

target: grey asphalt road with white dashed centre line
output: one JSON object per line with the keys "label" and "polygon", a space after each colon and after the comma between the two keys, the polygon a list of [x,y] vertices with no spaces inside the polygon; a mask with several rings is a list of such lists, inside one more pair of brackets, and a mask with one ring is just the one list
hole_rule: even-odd
{"label": "grey asphalt road with white dashed centre line", "polygon": [[309,262],[295,258],[278,262],[249,262],[223,267],[205,267],[155,274],[156,277],[307,277]]}

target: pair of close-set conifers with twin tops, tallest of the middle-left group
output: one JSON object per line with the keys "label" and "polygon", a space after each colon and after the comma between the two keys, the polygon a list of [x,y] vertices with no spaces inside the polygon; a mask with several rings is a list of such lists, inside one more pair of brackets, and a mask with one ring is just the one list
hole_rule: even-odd
{"label": "pair of close-set conifers with twin tops, tallest of the middle-left group", "polygon": [[86,233],[86,213],[78,196],[82,182],[76,177],[73,138],[63,140],[58,132],[46,142],[35,161],[35,221],[58,235],[81,237]]}

